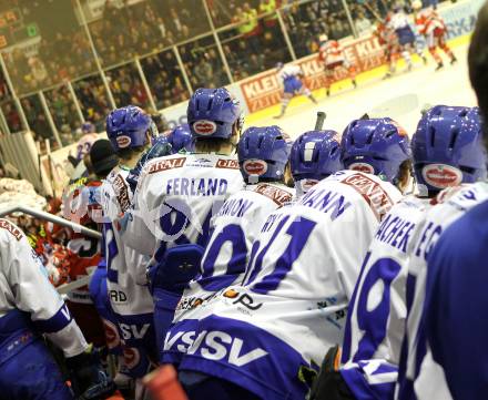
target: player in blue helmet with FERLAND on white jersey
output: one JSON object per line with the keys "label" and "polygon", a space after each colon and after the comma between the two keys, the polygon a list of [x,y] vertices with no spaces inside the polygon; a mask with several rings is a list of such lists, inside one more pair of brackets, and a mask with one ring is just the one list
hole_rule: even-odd
{"label": "player in blue helmet with FERLAND on white jersey", "polygon": [[[190,100],[187,120],[196,153],[177,153],[145,165],[126,224],[129,245],[153,257],[157,348],[163,347],[162,334],[167,329],[159,324],[167,308],[174,310],[196,274],[211,218],[244,185],[233,155],[243,125],[238,100],[224,88],[199,89]],[[141,275],[148,264],[139,265]],[[171,291],[175,287],[179,293]]]}

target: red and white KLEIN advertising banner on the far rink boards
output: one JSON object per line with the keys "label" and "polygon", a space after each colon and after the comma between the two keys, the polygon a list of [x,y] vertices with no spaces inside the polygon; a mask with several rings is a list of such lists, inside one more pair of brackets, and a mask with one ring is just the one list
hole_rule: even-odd
{"label": "red and white KLEIN advertising banner on the far rink boards", "polygon": [[[347,60],[354,65],[357,73],[373,70],[385,62],[383,48],[374,37],[362,38],[353,42],[343,43]],[[325,88],[324,65],[318,54],[313,54],[297,61],[305,75],[305,84],[311,90]],[[337,71],[334,80],[339,81],[345,71]],[[283,92],[275,70],[264,72],[241,83],[241,90],[247,103],[250,113],[266,109],[279,103]]]}

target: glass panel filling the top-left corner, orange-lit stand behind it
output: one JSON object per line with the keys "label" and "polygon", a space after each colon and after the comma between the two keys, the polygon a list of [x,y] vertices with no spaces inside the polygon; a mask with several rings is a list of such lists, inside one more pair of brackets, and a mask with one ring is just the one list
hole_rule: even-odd
{"label": "glass panel filling the top-left corner, orange-lit stand behind it", "polygon": [[0,1],[0,51],[18,95],[95,71],[73,7],[67,0]]}

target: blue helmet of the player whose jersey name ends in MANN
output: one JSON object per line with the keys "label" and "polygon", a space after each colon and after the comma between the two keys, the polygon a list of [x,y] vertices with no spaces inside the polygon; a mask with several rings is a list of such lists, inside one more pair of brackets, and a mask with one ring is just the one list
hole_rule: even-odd
{"label": "blue helmet of the player whose jersey name ends in MANN", "polygon": [[343,134],[342,160],[348,170],[396,184],[400,165],[411,157],[405,130],[389,117],[355,120]]}

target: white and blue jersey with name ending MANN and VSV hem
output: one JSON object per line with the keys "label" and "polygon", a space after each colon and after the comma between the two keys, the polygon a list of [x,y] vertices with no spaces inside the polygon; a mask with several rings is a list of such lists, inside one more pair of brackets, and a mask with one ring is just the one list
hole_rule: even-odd
{"label": "white and blue jersey with name ending MANN and VSV hem", "polygon": [[[200,321],[181,368],[218,369],[234,383],[245,376],[250,390],[261,397],[266,391],[268,399],[304,398],[299,371],[315,369],[331,346],[342,342],[362,261],[382,218],[400,198],[375,175],[342,171],[271,214],[244,285],[222,290],[209,304],[213,314]],[[232,348],[228,359],[224,352],[213,357],[207,341],[202,345],[203,331],[217,331],[212,335],[240,349]],[[234,356],[244,353],[236,361]]]}

